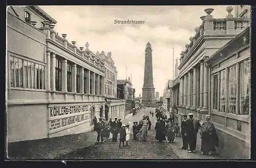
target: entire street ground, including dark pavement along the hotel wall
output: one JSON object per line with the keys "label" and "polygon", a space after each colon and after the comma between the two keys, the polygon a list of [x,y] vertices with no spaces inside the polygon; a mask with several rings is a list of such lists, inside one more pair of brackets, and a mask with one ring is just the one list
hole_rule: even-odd
{"label": "entire street ground, including dark pavement along the hotel wall", "polygon": [[[155,140],[156,117],[150,115],[154,108],[140,109],[137,114],[126,118],[122,123],[139,121],[142,116],[150,116],[152,129],[148,131],[147,141],[133,140],[131,130],[129,145],[118,148],[119,142],[108,139],[106,143],[95,143],[95,131],[65,135],[61,137],[12,142],[8,145],[9,158],[41,158],[41,159],[220,159],[214,155],[200,155],[201,139],[197,140],[197,152],[187,153],[180,150],[181,137],[174,143],[157,142]],[[132,128],[132,125],[131,125]]]}

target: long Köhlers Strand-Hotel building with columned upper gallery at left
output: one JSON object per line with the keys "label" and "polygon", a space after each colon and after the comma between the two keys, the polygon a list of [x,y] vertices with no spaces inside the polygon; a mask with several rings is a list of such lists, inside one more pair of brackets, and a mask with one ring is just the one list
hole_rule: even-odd
{"label": "long K\u00f6hlers Strand-Hotel building with columned upper gallery at left", "polygon": [[7,9],[8,142],[90,131],[104,115],[104,60],[55,23],[37,6]]}

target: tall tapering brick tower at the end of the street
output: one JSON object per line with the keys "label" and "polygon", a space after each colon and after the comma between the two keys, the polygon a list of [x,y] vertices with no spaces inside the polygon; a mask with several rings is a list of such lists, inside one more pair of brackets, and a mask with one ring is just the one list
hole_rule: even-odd
{"label": "tall tapering brick tower at the end of the street", "polygon": [[146,44],[144,84],[142,88],[142,104],[146,107],[156,107],[155,88],[153,84],[152,49],[151,44]]}

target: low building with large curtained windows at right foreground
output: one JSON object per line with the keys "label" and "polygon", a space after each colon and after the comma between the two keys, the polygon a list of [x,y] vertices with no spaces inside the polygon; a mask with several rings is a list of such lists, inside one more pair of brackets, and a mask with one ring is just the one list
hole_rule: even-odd
{"label": "low building with large curtained windows at right foreground", "polygon": [[206,60],[209,113],[220,139],[220,152],[232,158],[250,158],[250,57],[247,28]]}

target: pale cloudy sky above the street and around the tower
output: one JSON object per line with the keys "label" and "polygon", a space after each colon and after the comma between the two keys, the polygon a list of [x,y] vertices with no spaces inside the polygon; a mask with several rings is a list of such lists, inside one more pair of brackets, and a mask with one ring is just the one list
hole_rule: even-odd
{"label": "pale cloudy sky above the street and around the tower", "polygon": [[[67,34],[77,47],[112,52],[117,79],[130,77],[135,96],[142,94],[145,46],[152,44],[153,82],[160,96],[168,79],[173,79],[173,56],[180,58],[189,37],[202,23],[204,9],[213,8],[214,18],[225,18],[227,6],[39,6],[57,23],[55,31]],[[231,12],[233,13],[234,10]],[[141,20],[144,24],[115,24],[117,20]],[[174,47],[174,55],[173,55]],[[127,67],[127,73],[126,73]]]}

